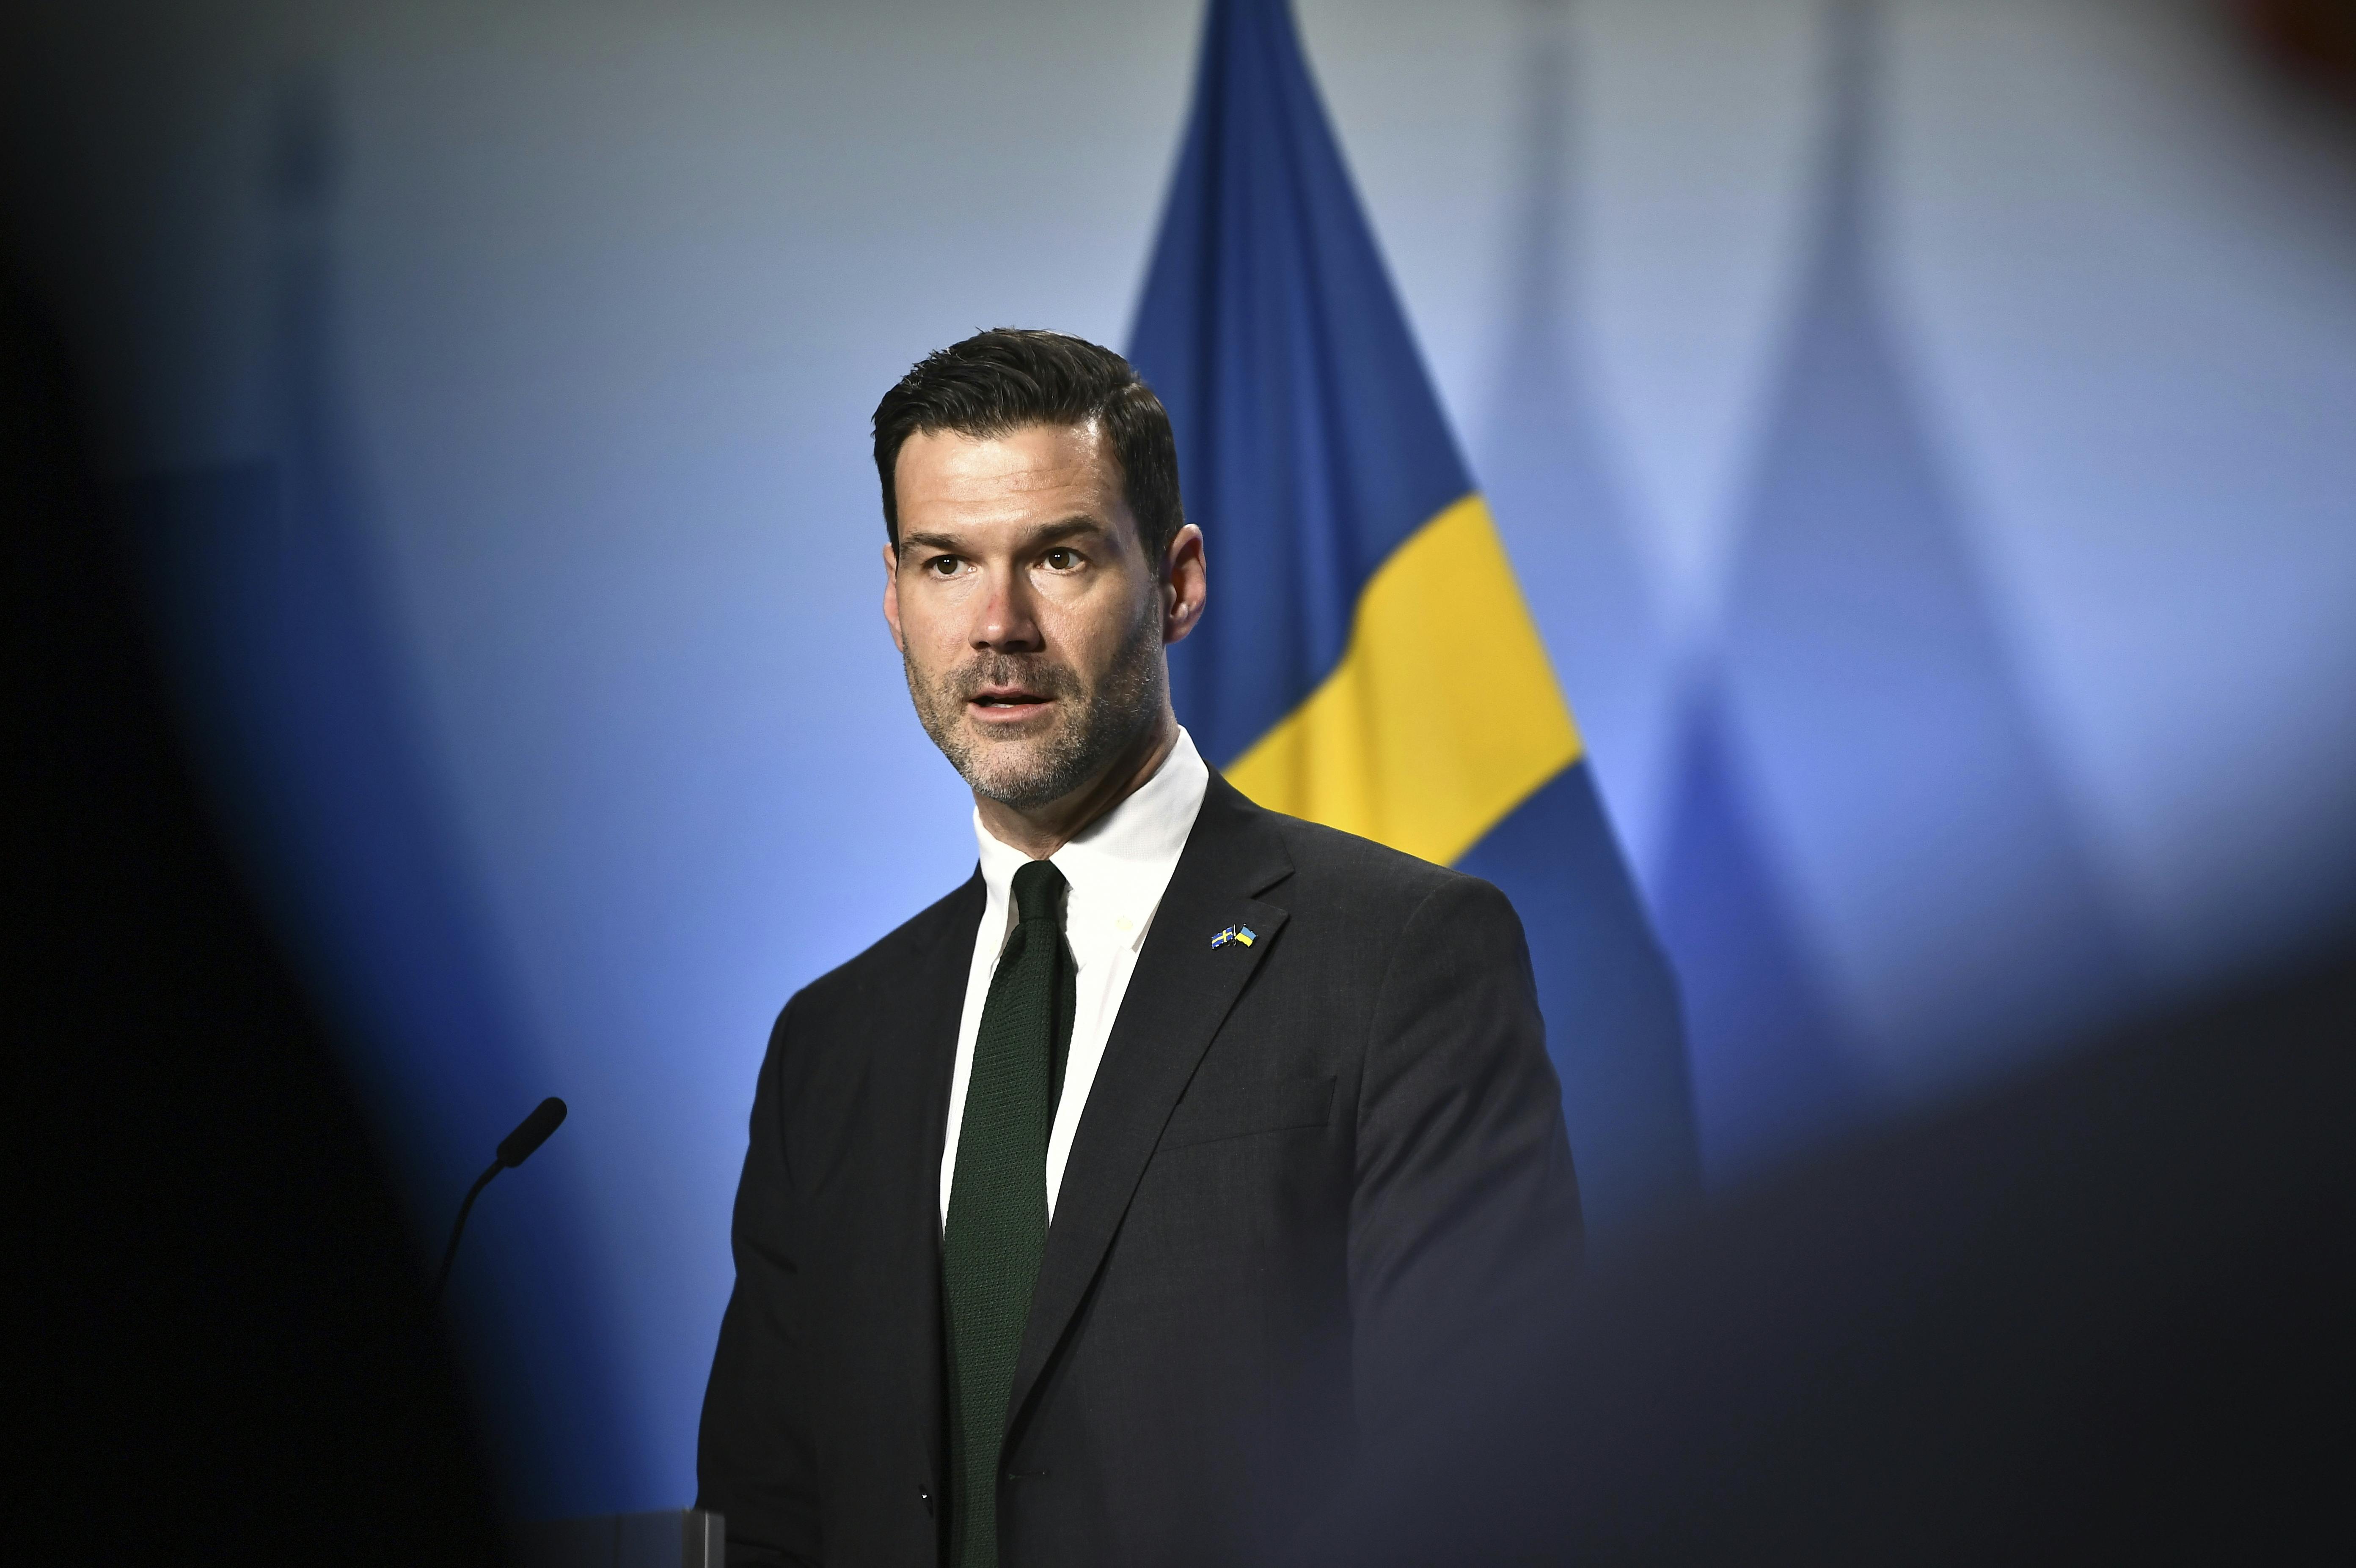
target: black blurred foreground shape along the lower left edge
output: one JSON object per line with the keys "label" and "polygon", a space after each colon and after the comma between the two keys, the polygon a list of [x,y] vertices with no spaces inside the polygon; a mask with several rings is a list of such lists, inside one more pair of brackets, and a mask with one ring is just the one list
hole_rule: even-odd
{"label": "black blurred foreground shape along the lower left edge", "polygon": [[210,831],[66,386],[0,273],[9,1556],[497,1563],[415,1243]]}

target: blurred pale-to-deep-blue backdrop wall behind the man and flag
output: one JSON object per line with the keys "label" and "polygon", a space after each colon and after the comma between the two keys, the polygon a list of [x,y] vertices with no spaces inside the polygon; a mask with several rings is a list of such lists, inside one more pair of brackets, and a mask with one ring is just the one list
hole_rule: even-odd
{"label": "blurred pale-to-deep-blue backdrop wall behind the man and flag", "polygon": [[[1298,5],[1718,1187],[2351,911],[2356,115],[2250,9]],[[768,1024],[973,859],[867,414],[975,327],[1126,341],[1197,28],[28,28],[12,238],[419,1234],[573,1107],[452,1290],[518,1511],[693,1495]]]}

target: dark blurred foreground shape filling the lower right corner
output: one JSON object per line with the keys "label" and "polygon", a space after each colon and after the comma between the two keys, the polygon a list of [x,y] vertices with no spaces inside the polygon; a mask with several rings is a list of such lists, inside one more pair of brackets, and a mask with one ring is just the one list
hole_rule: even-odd
{"label": "dark blurred foreground shape filling the lower right corner", "polygon": [[2351,1083],[2342,958],[1753,1189],[1331,1561],[2356,1561]]}

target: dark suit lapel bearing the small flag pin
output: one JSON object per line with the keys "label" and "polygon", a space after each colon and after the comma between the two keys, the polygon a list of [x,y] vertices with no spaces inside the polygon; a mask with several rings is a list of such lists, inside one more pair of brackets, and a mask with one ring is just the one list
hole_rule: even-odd
{"label": "dark suit lapel bearing the small flag pin", "polygon": [[[1268,812],[1213,772],[1072,1137],[1015,1361],[1008,1431],[1103,1267],[1194,1064],[1284,925],[1284,909],[1253,895],[1291,869]],[[1237,923],[1251,925],[1258,942],[1213,949],[1211,937]]]}

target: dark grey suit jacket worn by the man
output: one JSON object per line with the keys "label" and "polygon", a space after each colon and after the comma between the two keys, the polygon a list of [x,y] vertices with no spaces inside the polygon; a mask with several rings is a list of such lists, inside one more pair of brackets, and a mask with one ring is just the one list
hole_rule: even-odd
{"label": "dark grey suit jacket worn by the man", "polygon": [[[730,1563],[942,1556],[940,1149],[980,876],[787,1003],[700,1441]],[[1251,946],[1211,946],[1249,925]],[[1268,1561],[1468,1344],[1560,1309],[1579,1187],[1522,925],[1211,777],[1072,1144],[1001,1563]]]}

